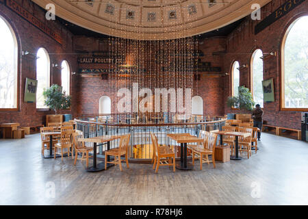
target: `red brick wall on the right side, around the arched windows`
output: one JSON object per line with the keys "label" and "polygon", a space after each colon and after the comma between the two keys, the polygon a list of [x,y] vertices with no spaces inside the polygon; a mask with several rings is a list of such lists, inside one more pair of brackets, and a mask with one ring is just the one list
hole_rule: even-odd
{"label": "red brick wall on the right side, around the arched windows", "polygon": [[[274,0],[264,8],[261,8],[261,19],[268,16],[274,10],[279,8],[285,1]],[[278,21],[272,23],[269,27],[266,27],[259,34],[254,34],[255,25],[260,21],[252,21],[248,16],[245,21],[235,29],[227,37],[227,54],[224,55],[224,70],[227,73],[231,73],[231,65],[235,60],[242,64],[248,64],[248,68],[240,70],[240,85],[251,87],[250,80],[250,64],[251,55],[255,49],[261,49],[264,53],[270,53],[270,51],[277,51],[277,57],[272,57],[268,60],[264,60],[264,79],[274,78],[274,91],[275,102],[264,103],[264,120],[268,121],[270,125],[279,125],[282,127],[290,127],[300,129],[300,112],[286,112],[281,111],[281,42],[287,27],[294,21],[294,18],[300,16],[300,14],[308,14],[308,2],[305,1],[301,5],[298,5],[289,14],[283,16]],[[231,74],[224,80],[224,103],[227,101],[227,97],[231,96]],[[237,113],[237,111],[231,111],[227,105],[224,105],[225,113]]]}

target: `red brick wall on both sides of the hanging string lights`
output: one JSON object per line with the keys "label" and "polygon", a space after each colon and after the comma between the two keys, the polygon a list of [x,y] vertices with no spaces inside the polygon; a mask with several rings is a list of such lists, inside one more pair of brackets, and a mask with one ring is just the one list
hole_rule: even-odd
{"label": "red brick wall on both sides of the hanging string lights", "polygon": [[[71,55],[75,51],[98,51],[106,50],[105,42],[98,38],[85,38],[73,36],[65,27],[62,27],[57,21],[46,21],[44,19],[44,10],[38,5],[35,5],[28,0],[17,0],[34,16],[40,18],[40,21],[47,24],[52,29],[58,29],[62,33],[64,40],[63,44],[58,44],[44,34],[42,31],[25,21],[23,18],[6,8],[4,1],[0,0],[0,15],[7,19],[12,25],[16,37],[18,39],[18,53],[20,59],[18,60],[18,83],[20,89],[18,91],[18,112],[0,112],[0,123],[18,122],[21,125],[34,126],[44,123],[46,114],[53,114],[53,112],[41,112],[36,110],[35,103],[24,103],[23,95],[25,90],[26,77],[36,78],[36,61],[21,57],[21,51],[29,51],[36,53],[40,47],[47,49],[50,55],[51,63],[61,64],[62,60],[67,60],[70,64],[72,72],[78,72],[79,67],[93,66],[78,66],[77,55]],[[262,19],[274,12],[279,5],[285,1],[274,0],[266,5],[261,10]],[[203,62],[211,62],[212,66],[222,67],[222,73],[231,72],[231,64],[234,60],[238,60],[240,64],[248,64],[251,62],[251,54],[257,48],[262,49],[264,53],[272,50],[277,51],[277,57],[266,60],[264,62],[264,79],[274,78],[275,99],[274,103],[264,104],[264,119],[272,125],[280,125],[285,127],[300,127],[300,113],[299,112],[284,112],[280,110],[280,47],[281,40],[287,25],[289,25],[294,18],[300,14],[308,12],[308,3],[305,1],[300,6],[292,10],[289,14],[280,18],[270,27],[264,29],[259,34],[254,34],[254,27],[259,21],[252,21],[249,17],[227,36],[227,38],[208,38],[203,40],[199,49],[205,53],[205,57],[201,57]],[[226,54],[213,55],[217,51],[227,50]],[[214,73],[215,74],[215,73]],[[51,69],[51,83],[61,83],[60,70],[57,68]],[[110,96],[112,99],[113,111],[115,109],[118,99],[114,92],[110,92],[115,86],[115,81],[103,81],[99,77],[71,77],[71,95],[72,111],[63,113],[72,113],[73,116],[79,114],[97,114],[99,112],[99,98],[103,95]],[[118,81],[118,83],[125,83]],[[250,81],[250,66],[246,70],[240,72],[240,84],[246,87],[251,86]],[[204,113],[206,115],[223,115],[232,112],[225,105],[227,96],[230,96],[231,85],[230,76],[226,77],[211,77],[201,76],[201,81],[194,81],[194,95],[198,94],[204,101]],[[233,111],[237,112],[237,111]]]}

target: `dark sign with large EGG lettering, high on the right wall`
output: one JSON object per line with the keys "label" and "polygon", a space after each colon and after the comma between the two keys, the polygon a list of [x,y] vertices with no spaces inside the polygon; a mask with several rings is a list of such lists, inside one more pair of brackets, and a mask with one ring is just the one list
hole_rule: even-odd
{"label": "dark sign with large EGG lettering, high on the right wall", "polygon": [[259,34],[259,32],[266,29],[266,27],[277,21],[279,18],[285,16],[285,14],[292,11],[294,8],[296,8],[296,6],[300,5],[304,1],[305,0],[289,0],[285,2],[277,10],[275,10],[272,14],[264,18],[263,21],[255,26],[255,35]]}

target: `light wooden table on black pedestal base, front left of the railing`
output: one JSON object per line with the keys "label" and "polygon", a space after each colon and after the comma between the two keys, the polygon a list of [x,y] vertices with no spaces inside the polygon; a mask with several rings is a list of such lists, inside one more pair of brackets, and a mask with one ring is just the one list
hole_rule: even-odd
{"label": "light wooden table on black pedestal base, front left of the railing", "polygon": [[[121,136],[98,136],[94,138],[80,138],[79,142],[92,142],[93,144],[93,166],[86,169],[88,172],[99,172],[105,170],[105,163],[101,162],[97,164],[97,143],[107,144],[107,150],[110,150],[110,142],[116,139],[121,138]],[[106,157],[105,157],[106,159]],[[110,157],[108,157],[110,161]],[[107,164],[107,168],[114,166],[114,164]]]}

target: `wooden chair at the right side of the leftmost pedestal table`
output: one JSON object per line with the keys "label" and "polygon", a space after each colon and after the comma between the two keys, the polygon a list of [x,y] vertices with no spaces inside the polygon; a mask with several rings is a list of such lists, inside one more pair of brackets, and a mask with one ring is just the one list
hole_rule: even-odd
{"label": "wooden chair at the right side of the leftmost pedestal table", "polygon": [[[59,155],[61,155],[61,157],[62,157],[61,160],[63,162],[64,153],[67,153],[68,157],[70,156],[70,153],[72,153],[72,159],[74,158],[74,156],[73,156],[72,134],[73,134],[73,129],[64,131],[64,129],[62,128],[62,130],[61,130],[61,142],[55,144],[54,158],[55,158],[55,155],[59,154]],[[57,152],[58,149],[61,150],[61,153]],[[63,151],[63,149],[66,149],[66,152]]]}

